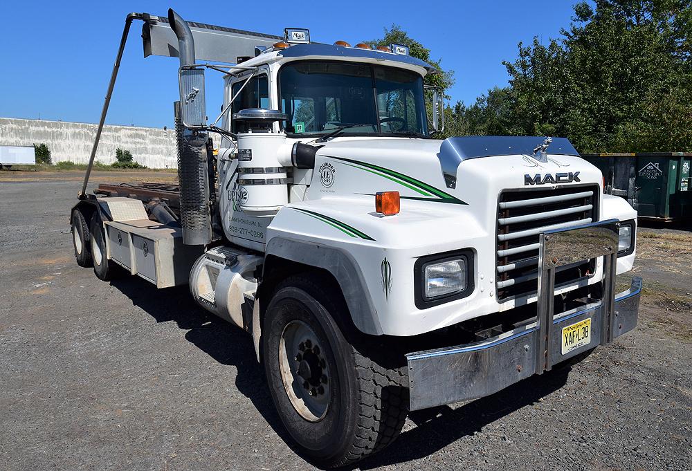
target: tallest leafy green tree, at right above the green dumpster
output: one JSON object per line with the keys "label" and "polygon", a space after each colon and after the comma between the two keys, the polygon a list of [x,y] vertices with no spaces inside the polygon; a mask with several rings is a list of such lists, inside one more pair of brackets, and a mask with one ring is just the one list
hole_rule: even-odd
{"label": "tallest leafy green tree, at right above the green dumpster", "polygon": [[597,0],[570,30],[504,62],[518,134],[582,152],[692,149],[690,0]]}

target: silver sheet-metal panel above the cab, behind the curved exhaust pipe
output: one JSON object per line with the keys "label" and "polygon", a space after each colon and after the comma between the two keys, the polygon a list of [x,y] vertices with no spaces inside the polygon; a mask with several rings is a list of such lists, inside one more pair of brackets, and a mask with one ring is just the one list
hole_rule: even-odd
{"label": "silver sheet-metal panel above the cab, behind the curved exhaust pipe", "polygon": [[[255,46],[271,47],[284,38],[252,31],[236,30],[188,21],[194,37],[194,57],[197,62],[236,64],[238,57],[255,57]],[[145,15],[142,28],[144,57],[162,55],[179,57],[178,39],[167,17]]]}

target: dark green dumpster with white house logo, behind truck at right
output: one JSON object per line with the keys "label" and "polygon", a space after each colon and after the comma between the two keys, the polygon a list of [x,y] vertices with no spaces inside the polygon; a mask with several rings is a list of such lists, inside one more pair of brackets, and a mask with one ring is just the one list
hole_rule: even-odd
{"label": "dark green dumpster with white house logo, behind truck at right", "polygon": [[605,192],[626,198],[639,217],[692,218],[692,154],[645,152],[639,154],[582,154],[599,167]]}

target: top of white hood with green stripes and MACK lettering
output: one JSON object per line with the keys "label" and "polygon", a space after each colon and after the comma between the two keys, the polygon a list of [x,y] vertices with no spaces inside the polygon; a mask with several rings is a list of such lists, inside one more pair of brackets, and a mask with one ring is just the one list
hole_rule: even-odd
{"label": "top of white hood with green stripes and MACK lettering", "polygon": [[329,142],[316,156],[311,198],[398,191],[405,200],[466,205],[488,198],[497,201],[499,192],[506,189],[601,185],[597,167],[577,156],[551,154],[550,150],[546,162],[527,154],[462,160],[453,167],[452,182],[443,172],[444,142],[410,138]]}

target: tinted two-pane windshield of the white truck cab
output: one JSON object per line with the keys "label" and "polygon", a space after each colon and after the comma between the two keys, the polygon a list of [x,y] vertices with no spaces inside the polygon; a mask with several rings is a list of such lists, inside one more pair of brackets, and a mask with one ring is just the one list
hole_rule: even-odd
{"label": "tinted two-pane windshield of the white truck cab", "polygon": [[428,136],[423,77],[399,68],[302,61],[279,73],[286,133]]}

